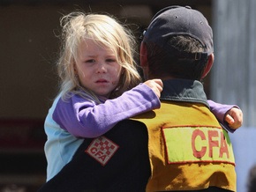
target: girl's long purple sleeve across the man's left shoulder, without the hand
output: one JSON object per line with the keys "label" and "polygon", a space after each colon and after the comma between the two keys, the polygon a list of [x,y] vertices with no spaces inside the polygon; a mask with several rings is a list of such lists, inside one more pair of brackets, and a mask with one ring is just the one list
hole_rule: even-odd
{"label": "girl's long purple sleeve across the man's left shoulder, without the hand", "polygon": [[76,137],[99,137],[117,122],[159,107],[160,100],[154,91],[140,84],[117,99],[99,105],[79,95],[73,95],[68,101],[60,99],[53,119]]}

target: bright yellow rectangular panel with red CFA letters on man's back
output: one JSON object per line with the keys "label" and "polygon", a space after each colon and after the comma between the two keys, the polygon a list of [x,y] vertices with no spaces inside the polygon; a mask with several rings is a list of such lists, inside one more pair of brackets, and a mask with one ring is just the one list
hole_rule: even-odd
{"label": "bright yellow rectangular panel with red CFA letters on man's back", "polygon": [[224,162],[235,164],[230,137],[224,129],[173,127],[162,129],[169,164]]}

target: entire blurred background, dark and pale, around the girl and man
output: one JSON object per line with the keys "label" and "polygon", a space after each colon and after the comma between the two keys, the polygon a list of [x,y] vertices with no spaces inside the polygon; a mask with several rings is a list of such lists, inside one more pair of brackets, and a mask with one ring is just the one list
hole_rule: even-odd
{"label": "entire blurred background, dark and pale, around the girl and man", "polygon": [[[43,121],[58,90],[59,19],[75,10],[108,12],[130,26],[139,41],[154,13],[176,4],[201,11],[213,26],[215,66],[204,84],[209,99],[237,104],[244,112],[244,126],[232,137],[238,157],[237,191],[245,191],[247,170],[256,161],[256,144],[246,143],[252,140],[248,135],[256,136],[253,1],[1,0],[0,192],[35,191],[45,181]],[[239,160],[245,151],[250,163]]]}

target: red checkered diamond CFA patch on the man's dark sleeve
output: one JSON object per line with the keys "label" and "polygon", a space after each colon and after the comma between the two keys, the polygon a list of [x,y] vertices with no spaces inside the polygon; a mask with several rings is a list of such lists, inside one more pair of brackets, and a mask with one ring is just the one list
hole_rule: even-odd
{"label": "red checkered diamond CFA patch on the man's dark sleeve", "polygon": [[102,136],[94,138],[86,152],[92,158],[100,162],[102,166],[105,166],[118,148],[119,146],[117,144],[112,142],[109,138]]}

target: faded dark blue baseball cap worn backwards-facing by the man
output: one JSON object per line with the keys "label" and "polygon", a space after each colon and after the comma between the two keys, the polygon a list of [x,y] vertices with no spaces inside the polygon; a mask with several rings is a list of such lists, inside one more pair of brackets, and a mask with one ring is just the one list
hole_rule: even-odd
{"label": "faded dark blue baseball cap worn backwards-facing by the man", "polygon": [[180,34],[200,41],[207,55],[214,52],[213,31],[207,18],[189,6],[169,6],[158,11],[144,33],[143,41],[164,47],[170,36]]}

